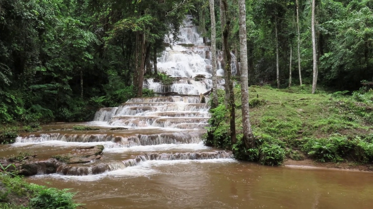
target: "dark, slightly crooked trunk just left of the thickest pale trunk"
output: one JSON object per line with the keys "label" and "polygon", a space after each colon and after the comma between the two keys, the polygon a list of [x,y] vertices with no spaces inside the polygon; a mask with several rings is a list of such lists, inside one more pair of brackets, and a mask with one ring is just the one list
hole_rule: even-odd
{"label": "dark, slightly crooked trunk just left of the thickest pale trunk", "polygon": [[[224,10],[228,11],[228,3],[227,0],[223,0],[224,4]],[[226,13],[224,13],[226,15]],[[227,18],[228,16],[225,16]],[[225,64],[225,69],[226,69],[226,77],[228,78],[228,87],[229,87],[229,124],[230,124],[230,129],[231,129],[231,143],[236,144],[237,139],[236,139],[236,123],[235,123],[235,100],[234,100],[234,91],[233,91],[233,81],[232,81],[232,69],[231,69],[231,53],[229,51],[229,45],[228,45],[228,36],[229,36],[229,26],[230,26],[231,21],[226,21],[225,23],[225,28],[223,32],[223,44],[225,48],[225,53],[227,56],[226,64]]]}

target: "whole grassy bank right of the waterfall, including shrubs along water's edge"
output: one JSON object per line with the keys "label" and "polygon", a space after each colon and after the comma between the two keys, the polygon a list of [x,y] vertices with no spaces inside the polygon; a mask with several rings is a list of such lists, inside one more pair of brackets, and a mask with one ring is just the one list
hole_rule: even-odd
{"label": "whole grassy bank right of the waterfall, including shrubs along water's edge", "polygon": [[[309,87],[272,89],[252,86],[250,119],[257,147],[246,149],[242,139],[241,94],[235,87],[236,133],[231,144],[224,92],[220,105],[211,109],[207,144],[233,149],[240,160],[279,165],[286,159],[370,164],[373,161],[372,91],[367,93],[310,94]],[[258,98],[257,98],[258,97]]]}

